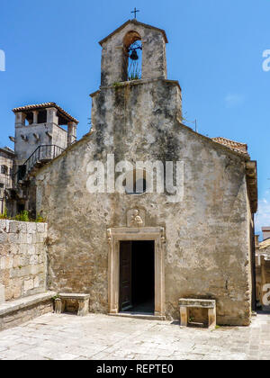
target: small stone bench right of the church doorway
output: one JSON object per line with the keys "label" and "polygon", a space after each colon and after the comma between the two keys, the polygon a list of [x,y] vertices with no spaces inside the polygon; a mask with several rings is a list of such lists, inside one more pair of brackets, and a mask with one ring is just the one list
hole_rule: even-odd
{"label": "small stone bench right of the church doorway", "polygon": [[198,299],[180,299],[180,325],[188,326],[189,309],[208,309],[208,327],[214,329],[216,327],[216,301],[198,300]]}

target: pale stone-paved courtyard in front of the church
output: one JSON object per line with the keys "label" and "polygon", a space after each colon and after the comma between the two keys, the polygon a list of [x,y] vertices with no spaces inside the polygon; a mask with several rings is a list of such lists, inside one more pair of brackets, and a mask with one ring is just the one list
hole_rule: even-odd
{"label": "pale stone-paved courtyard in front of the church", "polygon": [[249,328],[181,329],[179,324],[47,314],[0,333],[1,360],[270,359],[270,315]]}

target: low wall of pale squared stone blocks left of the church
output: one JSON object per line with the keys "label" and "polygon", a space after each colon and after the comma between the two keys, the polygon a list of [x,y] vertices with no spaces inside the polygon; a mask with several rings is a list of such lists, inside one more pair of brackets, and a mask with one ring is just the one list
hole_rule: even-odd
{"label": "low wall of pale squared stone blocks left of the church", "polygon": [[46,288],[47,224],[0,220],[0,286],[5,301]]}

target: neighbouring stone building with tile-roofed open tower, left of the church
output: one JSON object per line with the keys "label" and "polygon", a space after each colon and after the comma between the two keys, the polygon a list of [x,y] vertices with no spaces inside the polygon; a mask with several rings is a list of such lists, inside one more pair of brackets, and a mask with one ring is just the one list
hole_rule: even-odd
{"label": "neighbouring stone building with tile-roofed open tower, left of the church", "polygon": [[[33,173],[76,141],[78,121],[56,103],[27,105],[15,108],[13,112],[15,136],[10,139],[14,142],[14,151],[0,149],[0,163],[4,159],[0,185],[7,183],[2,187],[2,203],[10,216],[27,210],[34,218],[36,189]],[[4,204],[0,210],[3,213]]]}

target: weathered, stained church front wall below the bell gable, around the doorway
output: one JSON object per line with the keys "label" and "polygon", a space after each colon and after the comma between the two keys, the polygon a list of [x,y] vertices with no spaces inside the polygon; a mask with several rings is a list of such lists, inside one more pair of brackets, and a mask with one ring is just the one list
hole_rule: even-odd
{"label": "weathered, stained church front wall below the bell gable, around the doorway", "polygon": [[[148,80],[94,94],[93,132],[37,176],[38,211],[49,221],[49,289],[90,293],[90,311],[108,311],[106,230],[126,227],[127,211],[166,229],[166,317],[179,298],[217,301],[219,324],[251,316],[250,214],[246,157],[179,123],[175,82]],[[88,193],[93,160],[184,162],[184,201],[166,193]]]}

